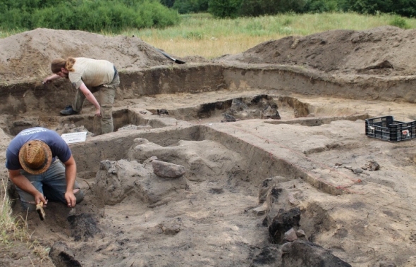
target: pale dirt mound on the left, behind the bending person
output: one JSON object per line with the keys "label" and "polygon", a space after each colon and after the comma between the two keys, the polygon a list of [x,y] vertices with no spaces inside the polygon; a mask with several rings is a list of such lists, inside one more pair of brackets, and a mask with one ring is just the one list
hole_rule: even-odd
{"label": "pale dirt mound on the left, behind the bending person", "polygon": [[38,28],[0,39],[0,80],[44,77],[54,58],[68,56],[106,59],[127,71],[172,63],[137,37]]}

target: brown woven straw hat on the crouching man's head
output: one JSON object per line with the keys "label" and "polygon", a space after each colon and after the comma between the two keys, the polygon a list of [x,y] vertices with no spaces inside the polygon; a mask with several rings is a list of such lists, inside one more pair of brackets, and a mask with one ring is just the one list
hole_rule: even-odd
{"label": "brown woven straw hat on the crouching man's head", "polygon": [[52,162],[51,149],[40,140],[27,141],[19,151],[19,162],[27,173],[44,173]]}

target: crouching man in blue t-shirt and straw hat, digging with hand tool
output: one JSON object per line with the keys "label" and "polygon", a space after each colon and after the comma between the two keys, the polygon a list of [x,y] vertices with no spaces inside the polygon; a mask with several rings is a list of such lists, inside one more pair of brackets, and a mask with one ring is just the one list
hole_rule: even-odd
{"label": "crouching man in blue t-shirt and straw hat, digging with hand tool", "polygon": [[75,181],[77,167],[71,149],[53,130],[36,127],[19,132],[8,145],[6,168],[23,209],[35,211],[47,199],[74,207],[84,197]]}

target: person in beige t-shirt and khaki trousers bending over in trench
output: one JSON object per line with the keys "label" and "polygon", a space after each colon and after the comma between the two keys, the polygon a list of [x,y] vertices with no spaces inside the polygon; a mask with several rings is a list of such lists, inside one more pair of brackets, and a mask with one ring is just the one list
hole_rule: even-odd
{"label": "person in beige t-shirt and khaki trousers bending over in trench", "polygon": [[[87,99],[95,106],[95,116],[101,118],[102,133],[114,131],[112,112],[120,77],[113,63],[92,58],[58,58],[52,61],[51,70],[54,74],[46,77],[43,82],[65,77],[77,90],[72,106],[60,111],[62,115],[80,113]],[[99,101],[95,99],[94,92],[99,92]]]}

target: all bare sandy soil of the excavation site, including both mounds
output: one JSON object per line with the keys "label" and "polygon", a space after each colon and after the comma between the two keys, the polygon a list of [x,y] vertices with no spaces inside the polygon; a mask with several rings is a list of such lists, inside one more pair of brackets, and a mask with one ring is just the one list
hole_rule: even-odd
{"label": "all bare sandy soil of the excavation site, including both mounds", "polygon": [[[50,259],[1,244],[1,265],[416,266],[415,141],[365,133],[367,118],[416,120],[415,38],[334,30],[183,66],[137,37],[37,29],[0,39],[3,162],[23,128],[89,132],[71,144],[85,201],[27,216]],[[116,132],[99,135],[90,104],[58,116],[71,88],[39,81],[66,56],[117,66]],[[162,177],[154,159],[185,173]]]}

